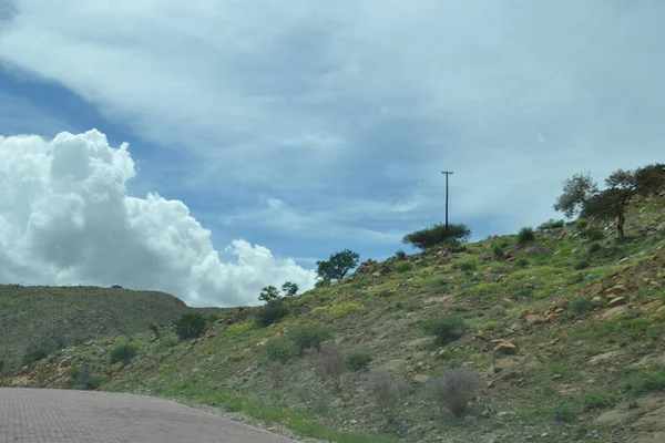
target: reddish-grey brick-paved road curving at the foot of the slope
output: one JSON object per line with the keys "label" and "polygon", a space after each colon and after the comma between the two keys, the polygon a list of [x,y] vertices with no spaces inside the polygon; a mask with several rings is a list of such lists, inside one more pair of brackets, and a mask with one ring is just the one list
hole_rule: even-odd
{"label": "reddish-grey brick-paved road curving at the foot of the slope", "polygon": [[0,388],[0,443],[287,443],[290,440],[142,395]]}

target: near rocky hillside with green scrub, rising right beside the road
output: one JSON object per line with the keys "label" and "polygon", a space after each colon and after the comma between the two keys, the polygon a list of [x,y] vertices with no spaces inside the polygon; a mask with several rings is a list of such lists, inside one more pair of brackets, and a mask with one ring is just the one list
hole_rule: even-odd
{"label": "near rocky hillside with green scrub, rising right beside the road", "polygon": [[[611,226],[576,222],[523,244],[509,235],[367,260],[338,284],[287,299],[290,315],[268,328],[253,321],[257,308],[221,309],[202,338],[178,341],[171,328],[158,339],[103,338],[0,384],[74,389],[90,364],[100,390],[242,413],[334,442],[662,442],[665,196],[636,199],[625,231],[617,239]],[[466,331],[438,344],[422,324],[447,318],[462,318]],[[315,360],[277,346],[305,324],[328,328],[347,356],[369,356],[368,371],[345,369],[340,390],[319,381]],[[121,343],[137,354],[111,364]],[[278,351],[285,363],[270,363]],[[428,382],[460,365],[481,383],[456,418],[436,405]],[[377,369],[398,380],[382,410],[369,384]]]}

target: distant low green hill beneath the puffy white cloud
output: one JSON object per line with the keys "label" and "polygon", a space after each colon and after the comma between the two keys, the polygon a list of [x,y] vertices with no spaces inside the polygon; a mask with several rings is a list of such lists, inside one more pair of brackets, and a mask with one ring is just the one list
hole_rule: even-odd
{"label": "distant low green hill beneath the puffy white cloud", "polygon": [[[187,312],[164,292],[122,288],[0,286],[0,361],[6,371],[58,348],[100,337],[149,331]],[[43,350],[43,352],[41,351]]]}

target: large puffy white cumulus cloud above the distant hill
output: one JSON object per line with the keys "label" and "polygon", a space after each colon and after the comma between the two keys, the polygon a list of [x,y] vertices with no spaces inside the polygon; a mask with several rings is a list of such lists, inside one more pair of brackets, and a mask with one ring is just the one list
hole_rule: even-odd
{"label": "large puffy white cumulus cloud above the distant hill", "polygon": [[96,130],[0,136],[0,282],[122,285],[191,306],[256,305],[262,287],[286,280],[314,286],[314,271],[242,239],[223,262],[183,202],[127,195],[127,147]]}

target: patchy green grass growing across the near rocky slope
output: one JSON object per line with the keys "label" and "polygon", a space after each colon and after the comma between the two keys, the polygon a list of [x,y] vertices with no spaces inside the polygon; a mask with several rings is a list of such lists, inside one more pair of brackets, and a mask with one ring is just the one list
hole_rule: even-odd
{"label": "patchy green grass growing across the near rocky slope", "polygon": [[[654,212],[654,216],[657,214]],[[585,226],[577,234],[589,228]],[[614,245],[613,235],[607,236],[597,244],[602,244],[601,249],[589,254],[593,243],[582,236],[560,239],[557,236],[563,233],[539,231],[539,244],[556,253],[548,256],[520,256],[523,248],[515,235],[469,245],[464,253],[415,254],[408,258],[410,261],[402,261],[408,264],[408,270],[396,269],[380,278],[371,274],[355,276],[285,301],[290,313],[270,328],[254,323],[254,307],[202,311],[217,337],[195,346],[178,342],[167,324],[161,328],[163,337],[155,340],[146,322],[145,333],[123,332],[141,351],[122,371],[117,363],[110,364],[109,353],[117,344],[129,343],[129,338],[95,340],[66,353],[74,357],[76,364],[79,360],[89,361],[94,373],[109,373],[103,390],[213,405],[265,424],[287,426],[298,435],[334,442],[401,441],[397,435],[422,441],[436,430],[444,441],[473,441],[473,426],[431,411],[427,387],[412,378],[437,377],[460,364],[487,371],[492,365],[497,368],[499,359],[514,359],[524,362],[515,368],[520,375],[511,378],[511,369],[488,374],[495,388],[483,390],[483,404],[479,402],[474,408],[479,412],[487,402],[495,411],[512,411],[516,415],[483,419],[487,427],[519,426],[522,420],[543,429],[575,432],[577,424],[593,423],[601,411],[665,392],[665,370],[649,367],[651,359],[645,360],[644,367],[628,367],[624,360],[616,360],[616,371],[606,371],[604,364],[589,364],[592,357],[608,351],[631,356],[630,363],[662,354],[665,316],[655,313],[655,309],[640,309],[640,305],[652,300],[665,301],[662,287],[632,290],[633,308],[612,318],[603,317],[606,301],[592,302],[586,295],[587,287],[598,281],[605,287],[627,285],[626,274],[636,274],[635,281],[641,282],[644,269],[653,267],[651,253],[665,240],[655,241],[653,236],[643,240],[633,230],[624,244]],[[497,257],[493,246],[507,255],[518,255],[519,259]],[[641,251],[643,256],[616,265]],[[582,260],[587,265],[575,270]],[[391,262],[400,266],[398,260]],[[416,265],[410,266],[411,262]],[[630,269],[635,265],[640,266],[637,272]],[[657,274],[648,277],[665,282]],[[531,327],[519,318],[522,310],[542,313],[564,302],[567,307],[557,313],[557,322]],[[505,316],[489,316],[495,305],[508,307]],[[233,324],[213,321],[227,316]],[[451,317],[460,321],[436,321]],[[428,322],[437,323],[436,328],[422,331],[421,324]],[[308,324],[329,328],[330,338],[345,352],[346,384],[341,393],[321,385],[313,360],[298,358],[298,350],[291,348],[294,333]],[[515,356],[492,351],[494,340],[504,338],[518,339]],[[283,354],[287,358],[282,359]],[[0,359],[4,359],[1,352]],[[283,384],[273,382],[276,372],[272,372],[268,360],[284,362]],[[367,396],[367,378],[383,365],[395,368],[392,373],[403,380],[403,423],[387,425]],[[61,381],[49,371],[40,373],[35,383],[73,387],[74,370],[63,372]],[[507,390],[510,395],[504,395]],[[342,431],[340,424],[350,420],[357,420],[357,425],[366,431],[381,430],[395,435]],[[411,433],[406,434],[407,430]],[[598,429],[598,433],[603,435],[603,430]]]}

